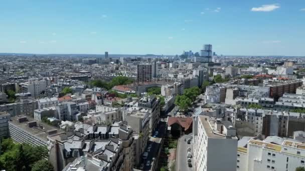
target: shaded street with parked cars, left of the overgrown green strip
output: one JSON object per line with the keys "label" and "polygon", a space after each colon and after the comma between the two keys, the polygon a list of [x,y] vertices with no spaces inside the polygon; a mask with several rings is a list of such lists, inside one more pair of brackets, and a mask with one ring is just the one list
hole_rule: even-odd
{"label": "shaded street with parked cars, left of the overgrown green strip", "polygon": [[[149,146],[149,144],[151,144],[151,148],[148,151],[147,158],[145,160],[144,159],[142,160],[143,170],[151,170],[151,166],[157,158],[159,148],[161,148],[160,142],[161,142],[162,138],[165,136],[166,123],[163,121],[160,121],[157,128],[158,128],[159,134],[156,137],[153,137],[153,136],[149,137],[145,151],[147,151],[147,147]],[[146,165],[147,161],[150,161],[149,165]],[[158,162],[156,162],[155,164],[157,164],[157,163]]]}

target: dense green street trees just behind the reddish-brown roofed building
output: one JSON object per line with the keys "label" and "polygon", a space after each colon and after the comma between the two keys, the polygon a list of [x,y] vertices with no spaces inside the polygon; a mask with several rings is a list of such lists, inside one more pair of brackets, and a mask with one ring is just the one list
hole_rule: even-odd
{"label": "dense green street trees just behind the reddish-brown roofed building", "polygon": [[179,106],[179,109],[186,112],[192,106],[197,96],[200,94],[200,88],[198,86],[187,88],[184,90],[183,95],[178,95],[175,100],[175,104]]}

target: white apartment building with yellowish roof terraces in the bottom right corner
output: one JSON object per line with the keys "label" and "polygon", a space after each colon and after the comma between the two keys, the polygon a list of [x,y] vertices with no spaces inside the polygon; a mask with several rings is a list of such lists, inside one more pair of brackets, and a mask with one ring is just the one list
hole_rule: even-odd
{"label": "white apartment building with yellowish roof terraces in the bottom right corner", "polygon": [[305,144],[284,140],[281,145],[251,139],[237,149],[237,170],[294,171],[305,166]]}

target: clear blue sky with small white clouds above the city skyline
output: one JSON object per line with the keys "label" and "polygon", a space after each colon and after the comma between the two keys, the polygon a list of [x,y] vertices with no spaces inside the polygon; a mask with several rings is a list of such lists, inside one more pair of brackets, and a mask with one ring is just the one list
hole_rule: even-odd
{"label": "clear blue sky with small white clouds above the city skyline", "polygon": [[305,56],[305,0],[2,0],[0,52]]}

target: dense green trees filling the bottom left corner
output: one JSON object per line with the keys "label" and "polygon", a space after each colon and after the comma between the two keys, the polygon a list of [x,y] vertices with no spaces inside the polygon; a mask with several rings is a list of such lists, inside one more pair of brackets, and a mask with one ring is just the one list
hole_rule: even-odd
{"label": "dense green trees filling the bottom left corner", "polygon": [[48,149],[43,146],[14,143],[11,138],[1,143],[0,169],[7,171],[53,171],[54,168],[44,157]]}

